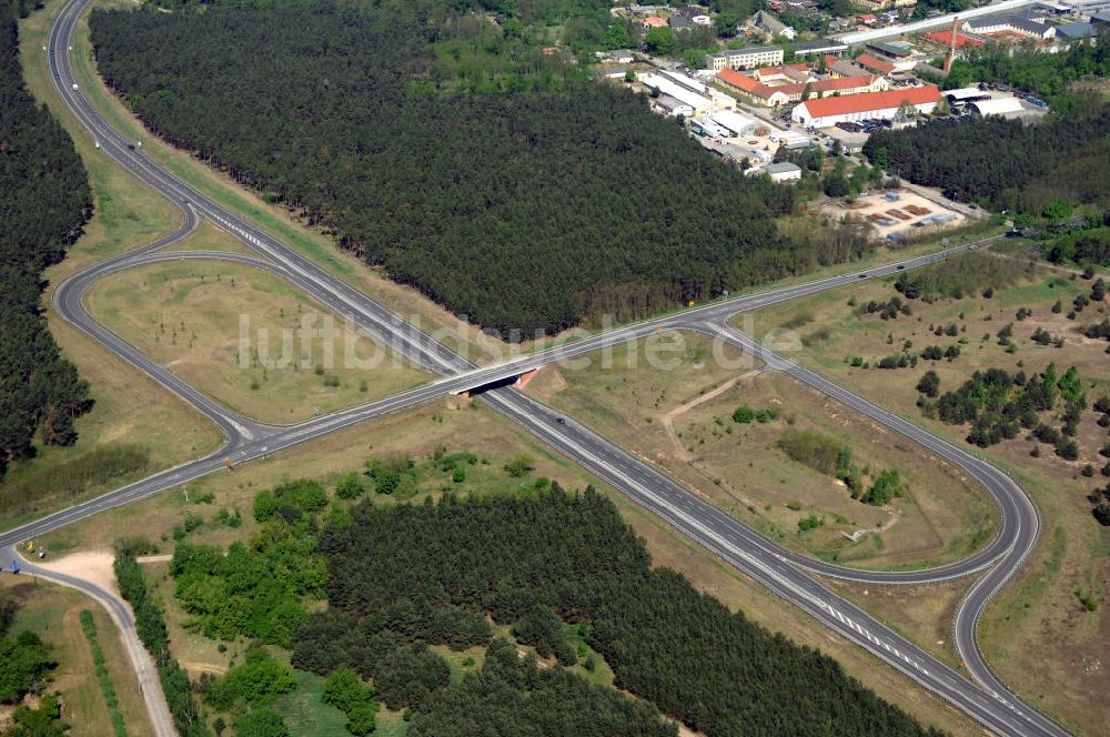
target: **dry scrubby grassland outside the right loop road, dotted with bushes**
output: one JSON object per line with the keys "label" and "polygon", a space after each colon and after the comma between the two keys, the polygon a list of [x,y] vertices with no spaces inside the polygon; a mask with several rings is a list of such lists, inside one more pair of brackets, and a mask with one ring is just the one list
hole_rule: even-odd
{"label": "dry scrubby grassland outside the right loop road, dotted with bushes", "polygon": [[[1088,401],[1093,402],[1110,393],[1107,343],[1086,339],[1074,329],[1106,319],[1110,306],[1092,304],[1077,320],[1067,317],[1072,300],[1089,292],[1090,285],[1083,280],[1072,281],[1058,270],[1038,267],[1012,286],[995,290],[991,299],[976,293],[932,304],[914,300],[911,315],[882,321],[878,315],[857,316],[848,305],[849,299],[858,306],[897,294],[889,282],[867,281],[745,315],[737,324],[751,326],[758,336],[791,325],[805,346],[791,357],[975,451],[963,440],[968,426],[947,425],[921,415],[915,388],[921,374],[935,370],[940,376],[940,391],[945,392],[958,387],[975,371],[999,367],[1011,374],[1032,374],[1054,362],[1061,374],[1068,366],[1077,367]],[[1063,304],[1060,313],[1051,310],[1057,300]],[[1020,307],[1031,310],[1031,316],[1017,320]],[[953,323],[958,325],[957,336],[935,336],[928,329]],[[995,339],[1008,323],[1012,323],[1012,342],[1017,346],[1012,354]],[[1038,329],[1062,336],[1064,346],[1035,343],[1030,339]],[[982,340],[988,334],[990,339]],[[921,361],[916,368],[889,371],[852,367],[846,362],[858,355],[874,365],[879,357],[899,352],[907,340],[912,341],[915,351],[932,344],[962,343],[961,354],[951,362]],[[1036,551],[988,608],[980,627],[981,645],[1003,682],[1070,727],[1090,734],[1101,731],[1110,719],[1110,705],[1104,698],[1110,690],[1110,528],[1094,521],[1087,501],[1091,489],[1104,484],[1106,478],[1098,473],[1093,478],[1080,474],[1088,463],[1096,468],[1106,463],[1098,450],[1107,443],[1107,431],[1094,420],[1093,412],[1082,414],[1076,436],[1078,461],[1064,461],[1046,445],[1041,446],[1040,457],[1031,457],[1038,444],[1027,440],[1025,432],[1012,441],[979,451],[1030,493],[1043,525]],[[1051,422],[1059,424],[1058,418]],[[1092,596],[1101,606],[1096,612],[1086,610],[1077,590]],[[882,615],[889,622],[915,617],[914,603],[900,613],[898,603],[891,604]]]}

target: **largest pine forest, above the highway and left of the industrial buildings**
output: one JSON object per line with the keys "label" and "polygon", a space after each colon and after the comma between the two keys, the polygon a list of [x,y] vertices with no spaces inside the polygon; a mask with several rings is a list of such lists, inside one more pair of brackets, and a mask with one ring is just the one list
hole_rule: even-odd
{"label": "largest pine forest, above the highway and left of the industrial buildings", "polygon": [[789,190],[482,18],[314,4],[91,26],[152,130],[487,329],[629,317],[818,258],[776,232]]}

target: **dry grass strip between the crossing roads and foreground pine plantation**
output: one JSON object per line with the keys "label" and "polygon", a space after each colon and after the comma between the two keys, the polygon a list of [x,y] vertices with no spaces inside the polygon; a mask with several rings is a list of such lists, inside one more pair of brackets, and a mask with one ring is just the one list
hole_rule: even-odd
{"label": "dry grass strip between the crossing roads and foreground pine plantation", "polygon": [[[204,524],[185,538],[195,543],[229,545],[236,539],[249,538],[256,529],[250,511],[254,495],[262,489],[292,478],[309,477],[321,481],[331,492],[342,474],[360,470],[366,460],[406,453],[420,461],[434,453],[438,446],[445,446],[448,452],[468,450],[492,460],[488,466],[480,463],[467,467],[467,479],[462,484],[462,492],[482,488],[490,493],[514,493],[522,483],[531,485],[538,476],[556,481],[565,488],[584,488],[593,483],[614,501],[622,516],[645,539],[656,565],[683,573],[699,590],[717,596],[733,609],[741,609],[749,619],[771,632],[780,632],[799,644],[819,647],[840,662],[849,674],[918,719],[936,724],[956,735],[980,734],[955,709],[921,691],[912,682],[894,670],[877,667],[878,662],[870,655],[850,642],[828,633],[793,607],[784,606],[765,588],[693,544],[658,517],[593,478],[577,465],[548,451],[519,432],[515,425],[506,423],[484,407],[481,400],[445,400],[404,414],[380,417],[290,448],[269,461],[246,463],[238,466],[234,472],[199,479],[188,487],[190,502],[185,502],[183,489],[171,489],[59,529],[42,542],[51,551],[83,549],[109,545],[119,537],[121,531],[142,531],[143,536],[160,547],[160,553],[167,554],[172,552],[173,527],[182,524],[186,512],[201,514],[205,521],[210,521],[220,508],[238,507],[244,513],[241,528],[229,529]],[[519,453],[532,456],[535,470],[524,479],[511,479],[501,472],[500,463],[502,458]],[[413,499],[418,502],[424,496],[438,496],[441,487],[441,484],[428,484]],[[212,494],[210,504],[196,502],[209,493]],[[389,497],[379,501],[384,504],[393,503]],[[167,563],[151,563],[145,564],[144,568],[149,580],[158,586],[159,598],[168,604],[174,655],[193,677],[205,670],[222,673],[231,656],[245,649],[245,643],[230,644],[228,652],[220,653],[216,643],[185,630],[182,627],[184,615],[170,600],[172,582],[164,578],[167,566]],[[592,677],[605,677],[605,669],[599,667]],[[379,716],[379,733],[402,735],[405,724],[400,713],[382,711]]]}

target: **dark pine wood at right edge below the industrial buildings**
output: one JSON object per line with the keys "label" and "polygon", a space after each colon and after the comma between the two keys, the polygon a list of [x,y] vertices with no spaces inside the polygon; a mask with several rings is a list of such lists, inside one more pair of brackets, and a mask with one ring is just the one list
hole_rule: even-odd
{"label": "dark pine wood at right edge below the industrial buildings", "polygon": [[1110,205],[1110,104],[1093,99],[1037,124],[992,117],[879,130],[864,153],[888,161],[891,173],[997,210],[1040,214],[1058,200]]}

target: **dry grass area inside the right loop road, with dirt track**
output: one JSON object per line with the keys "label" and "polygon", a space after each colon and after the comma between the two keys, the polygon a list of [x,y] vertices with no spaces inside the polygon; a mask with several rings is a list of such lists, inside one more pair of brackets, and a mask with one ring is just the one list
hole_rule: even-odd
{"label": "dry grass area inside the right loop road, with dirt track", "polygon": [[[674,354],[677,363],[669,371],[648,365],[644,346],[629,344],[613,351],[609,368],[601,361],[584,371],[547,368],[528,391],[776,542],[821,558],[920,566],[962,557],[990,539],[992,509],[953,466],[788,376],[759,373],[719,346],[724,361],[748,364],[726,367],[713,357],[708,337],[678,339],[685,352]],[[733,411],[741,404],[778,416],[736,423]],[[854,463],[875,473],[897,468],[907,493],[882,507],[852,499],[841,482],[779,450],[787,428],[847,444]],[[800,533],[799,522],[813,515],[821,525]],[[851,534],[856,542],[846,537]]]}

